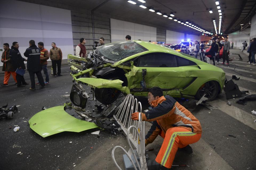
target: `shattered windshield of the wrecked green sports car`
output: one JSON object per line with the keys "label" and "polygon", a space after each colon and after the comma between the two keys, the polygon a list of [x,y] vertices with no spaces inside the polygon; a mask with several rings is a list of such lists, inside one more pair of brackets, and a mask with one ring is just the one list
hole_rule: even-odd
{"label": "shattered windshield of the wrecked green sports car", "polygon": [[103,58],[106,57],[113,61],[119,61],[144,51],[147,51],[147,49],[138,43],[134,41],[125,41],[112,43],[110,45],[103,45],[102,47],[97,48],[95,53]]}

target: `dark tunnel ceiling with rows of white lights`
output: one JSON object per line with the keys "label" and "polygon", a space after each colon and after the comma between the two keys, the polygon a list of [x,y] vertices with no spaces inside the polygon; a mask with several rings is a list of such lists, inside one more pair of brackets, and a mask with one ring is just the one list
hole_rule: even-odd
{"label": "dark tunnel ceiling with rows of white lights", "polygon": [[[49,0],[46,1],[48,2]],[[137,0],[133,1],[137,2],[137,4],[133,5],[128,3],[127,0],[56,0],[54,3],[65,5],[66,9],[67,6],[71,6],[77,7],[79,11],[81,11],[81,8],[87,12],[93,10],[95,15],[160,27],[172,31],[186,32],[187,34],[200,35],[202,32],[175,22],[174,18],[184,23],[186,20],[189,20],[200,28],[213,33],[215,31],[212,20],[219,21],[218,5],[215,4],[215,0],[145,0],[146,3],[141,3]],[[222,10],[221,32],[223,33],[239,30],[240,24],[245,21],[247,22],[255,14],[255,0],[221,0],[219,3]],[[155,11],[159,10],[161,13],[166,13],[168,17],[171,12],[175,16],[172,17],[173,19],[165,18],[162,15],[150,12],[148,8],[143,9],[139,7],[141,4],[146,7],[153,7]],[[43,5],[47,5],[47,3]],[[213,13],[209,13],[210,9],[212,9]],[[216,22],[216,24],[218,29],[219,22]]]}

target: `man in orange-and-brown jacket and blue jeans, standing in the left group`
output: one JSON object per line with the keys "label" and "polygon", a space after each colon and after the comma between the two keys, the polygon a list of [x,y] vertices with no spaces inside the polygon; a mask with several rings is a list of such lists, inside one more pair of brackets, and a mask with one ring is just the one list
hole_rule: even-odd
{"label": "man in orange-and-brown jacket and blue jeans, standing in the left group", "polygon": [[[41,71],[43,70],[43,73],[45,74],[45,85],[49,84],[49,74],[47,70],[47,60],[49,59],[49,52],[47,49],[43,47],[43,42],[38,43],[38,48],[40,51],[40,64],[41,64]],[[40,83],[37,82],[36,85],[39,85]]]}

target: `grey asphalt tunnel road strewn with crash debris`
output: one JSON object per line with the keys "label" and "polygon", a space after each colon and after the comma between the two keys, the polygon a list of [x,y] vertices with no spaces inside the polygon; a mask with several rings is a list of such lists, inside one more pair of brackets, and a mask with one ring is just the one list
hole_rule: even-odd
{"label": "grey asphalt tunnel road strewn with crash debris", "polygon": [[[231,49],[230,52],[242,56],[243,60],[238,61],[238,55],[230,55],[231,58],[235,57],[230,63],[236,64],[235,70],[242,75],[234,71],[233,65],[227,67],[219,64],[217,67],[226,72],[228,80],[233,74],[240,77],[240,80],[235,81],[240,90],[249,90],[251,94],[256,94],[256,66],[246,63],[246,53],[238,49]],[[50,73],[50,68],[48,71]],[[97,138],[97,135],[91,134],[94,131],[91,130],[79,133],[61,132],[42,138],[30,129],[29,119],[41,111],[43,106],[50,108],[69,101],[69,98],[61,97],[70,92],[73,84],[71,76],[65,71],[69,71],[69,66],[62,66],[63,76],[50,77],[50,84],[44,89],[39,89],[40,85],[34,91],[29,90],[29,85],[17,88],[12,77],[9,86],[0,88],[0,105],[20,105],[14,119],[0,120],[0,169],[117,169],[111,158],[113,147],[121,145],[126,150],[129,148],[126,138],[121,134],[113,136],[109,132],[101,131]],[[3,77],[0,75],[1,82]],[[27,72],[25,80],[30,83]],[[89,91],[89,88],[86,90]],[[190,110],[201,122],[202,138],[191,144],[193,154],[177,152],[175,156],[174,165],[187,164],[189,167],[173,169],[255,169],[256,115],[251,111],[256,110],[256,102],[248,101],[246,105],[239,105],[235,103],[236,100],[230,99],[231,106],[227,105],[228,100],[222,92],[215,101],[209,102],[218,109],[209,110],[199,105]],[[146,98],[139,98],[139,101],[143,103],[143,108],[148,107]],[[94,105],[95,101],[88,101],[87,109],[94,109]],[[20,127],[17,132],[13,131],[15,125]],[[150,125],[146,122],[146,131]],[[158,136],[146,149],[154,148],[154,153],[157,154],[162,140]],[[17,154],[18,152],[22,152],[22,155]],[[120,150],[115,153],[121,167],[122,154]]]}

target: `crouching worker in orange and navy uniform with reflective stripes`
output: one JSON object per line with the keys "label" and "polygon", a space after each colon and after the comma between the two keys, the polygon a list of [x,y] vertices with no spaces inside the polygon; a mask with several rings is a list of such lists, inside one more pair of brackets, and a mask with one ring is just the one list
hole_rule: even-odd
{"label": "crouching worker in orange and navy uniform with reflective stripes", "polygon": [[[164,138],[160,151],[155,159],[162,165],[161,169],[171,168],[175,154],[179,148],[191,154],[189,144],[199,141],[202,127],[197,118],[173,97],[163,96],[159,87],[149,90],[148,101],[153,109],[142,113],[143,121],[153,121],[145,137],[145,145],[152,143],[158,135]],[[138,120],[139,113],[132,114],[131,119]]]}

